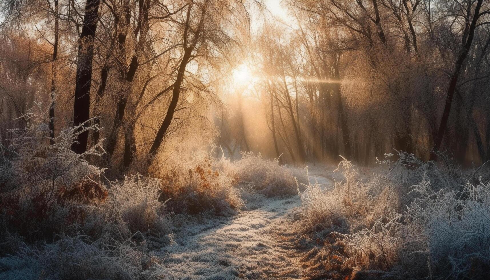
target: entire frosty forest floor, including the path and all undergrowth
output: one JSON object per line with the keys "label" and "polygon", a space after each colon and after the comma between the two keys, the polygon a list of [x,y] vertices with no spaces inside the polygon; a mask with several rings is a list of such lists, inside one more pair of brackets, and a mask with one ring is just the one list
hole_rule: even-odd
{"label": "entire frosty forest floor, including the path and all undergrowth", "polygon": [[83,219],[35,225],[54,237],[6,231],[0,279],[488,279],[490,172],[407,153],[377,163],[247,153],[99,183],[103,200],[74,204]]}

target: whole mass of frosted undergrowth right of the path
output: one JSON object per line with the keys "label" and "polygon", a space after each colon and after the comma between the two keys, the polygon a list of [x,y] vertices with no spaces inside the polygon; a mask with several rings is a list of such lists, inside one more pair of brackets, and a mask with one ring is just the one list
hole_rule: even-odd
{"label": "whole mass of frosted undergrowth right of the path", "polygon": [[[317,236],[312,273],[340,278],[485,279],[490,184],[408,154],[362,178],[343,159],[332,188],[300,194],[302,230]],[[451,171],[451,172],[449,172]],[[310,252],[312,254],[312,252]]]}

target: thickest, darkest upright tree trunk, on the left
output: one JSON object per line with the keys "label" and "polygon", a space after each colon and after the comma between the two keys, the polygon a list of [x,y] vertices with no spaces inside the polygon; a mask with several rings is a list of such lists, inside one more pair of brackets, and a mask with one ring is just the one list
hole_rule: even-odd
{"label": "thickest, darkest upright tree trunk, on the left", "polygon": [[[92,80],[92,60],[94,58],[94,38],[97,30],[98,7],[100,0],[87,0],[83,17],[78,62],[76,64],[75,97],[73,102],[73,125],[78,126],[89,120],[90,85]],[[81,131],[83,127],[78,128]],[[78,134],[72,145],[75,153],[85,153],[89,132]]]}

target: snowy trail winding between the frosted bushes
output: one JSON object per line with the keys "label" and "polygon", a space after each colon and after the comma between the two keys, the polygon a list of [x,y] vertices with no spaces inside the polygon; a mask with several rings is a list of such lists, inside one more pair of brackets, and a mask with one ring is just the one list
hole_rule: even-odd
{"label": "snowy trail winding between the frosted bushes", "polygon": [[[312,183],[331,180],[312,176]],[[233,217],[206,217],[162,248],[175,279],[301,279],[301,249],[292,225],[297,196],[263,198],[261,206]],[[186,224],[186,223],[185,223]],[[186,227],[186,225],[182,225]],[[178,237],[181,236],[181,237]]]}

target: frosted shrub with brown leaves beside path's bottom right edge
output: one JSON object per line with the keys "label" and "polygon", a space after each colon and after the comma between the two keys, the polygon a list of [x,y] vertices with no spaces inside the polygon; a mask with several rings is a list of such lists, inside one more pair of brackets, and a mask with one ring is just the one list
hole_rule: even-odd
{"label": "frosted shrub with brown leaves beside path's bottom right edge", "polygon": [[353,234],[332,232],[336,245],[342,248],[339,257],[344,262],[343,269],[350,270],[351,276],[418,278],[425,275],[427,259],[421,229],[407,227],[402,219],[401,214],[389,211],[370,229]]}

